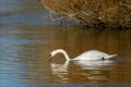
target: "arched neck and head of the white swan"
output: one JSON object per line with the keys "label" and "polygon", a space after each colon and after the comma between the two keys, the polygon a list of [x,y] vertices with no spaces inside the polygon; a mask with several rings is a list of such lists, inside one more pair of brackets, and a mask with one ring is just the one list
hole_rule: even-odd
{"label": "arched neck and head of the white swan", "polygon": [[62,53],[67,60],[70,60],[68,53],[63,49],[57,49],[49,53],[49,61],[51,61],[51,58],[58,53]]}

